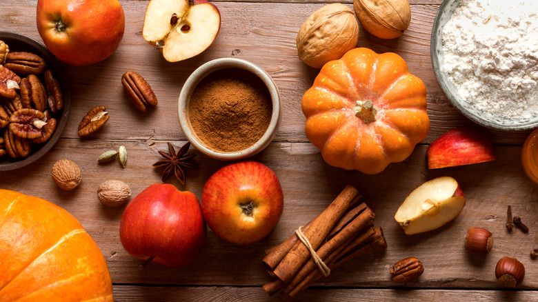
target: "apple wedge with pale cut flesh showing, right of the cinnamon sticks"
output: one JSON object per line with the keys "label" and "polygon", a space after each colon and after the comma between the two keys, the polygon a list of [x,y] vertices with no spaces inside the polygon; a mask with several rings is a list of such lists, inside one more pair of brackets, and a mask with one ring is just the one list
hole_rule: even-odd
{"label": "apple wedge with pale cut flesh showing, right of the cinnamon sticks", "polygon": [[457,181],[452,177],[437,177],[413,190],[394,218],[406,234],[418,234],[445,225],[464,206],[464,193]]}

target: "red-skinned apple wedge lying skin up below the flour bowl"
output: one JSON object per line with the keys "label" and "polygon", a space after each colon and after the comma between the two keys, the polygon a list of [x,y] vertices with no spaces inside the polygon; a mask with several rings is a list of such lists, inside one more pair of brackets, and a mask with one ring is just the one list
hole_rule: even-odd
{"label": "red-skinned apple wedge lying skin up below the flour bowl", "polygon": [[493,144],[477,128],[458,127],[442,134],[426,150],[428,168],[438,169],[495,160]]}

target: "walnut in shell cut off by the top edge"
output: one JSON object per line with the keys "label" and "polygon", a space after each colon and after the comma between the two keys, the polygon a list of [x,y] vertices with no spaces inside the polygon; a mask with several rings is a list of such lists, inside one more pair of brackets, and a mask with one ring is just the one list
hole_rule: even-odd
{"label": "walnut in shell cut off by the top edge", "polygon": [[407,0],[353,0],[361,25],[381,39],[394,39],[409,27],[411,8]]}

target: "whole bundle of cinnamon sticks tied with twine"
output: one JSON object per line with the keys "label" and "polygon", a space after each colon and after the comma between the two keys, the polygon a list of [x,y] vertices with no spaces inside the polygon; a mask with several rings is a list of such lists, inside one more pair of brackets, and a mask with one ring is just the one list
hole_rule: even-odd
{"label": "whole bundle of cinnamon sticks tied with twine", "polygon": [[[310,223],[280,245],[266,250],[262,262],[273,280],[263,285],[270,295],[289,301],[330,270],[357,256],[387,247],[375,214],[351,185]],[[301,239],[302,237],[302,239]]]}

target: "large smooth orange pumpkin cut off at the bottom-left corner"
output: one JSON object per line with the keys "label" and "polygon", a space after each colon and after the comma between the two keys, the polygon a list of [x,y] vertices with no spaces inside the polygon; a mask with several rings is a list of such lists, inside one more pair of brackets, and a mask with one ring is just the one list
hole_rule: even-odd
{"label": "large smooth orange pumpkin cut off at the bottom-left corner", "polygon": [[103,254],[66,210],[0,190],[0,301],[112,301]]}

